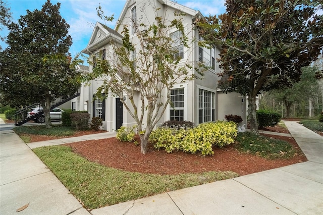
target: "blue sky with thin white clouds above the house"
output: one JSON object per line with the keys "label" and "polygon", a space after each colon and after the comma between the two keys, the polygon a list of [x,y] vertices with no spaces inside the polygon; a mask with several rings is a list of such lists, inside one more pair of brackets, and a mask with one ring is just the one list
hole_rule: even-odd
{"label": "blue sky with thin white clouds above the house", "polygon": [[[4,0],[4,2],[7,2],[7,5],[10,7],[13,21],[16,22],[20,16],[26,15],[26,10],[41,10],[42,5],[44,5],[46,0]],[[51,0],[52,4],[56,4],[57,2],[61,3],[60,12],[62,17],[70,25],[69,34],[73,39],[70,53],[72,57],[74,57],[76,53],[79,53],[87,46],[95,23],[100,21],[96,12],[96,8],[99,4],[105,15],[110,16],[114,14],[115,21],[110,24],[107,23],[109,27],[114,28],[126,0]],[[209,14],[219,15],[225,13],[225,0],[178,0],[176,2],[189,8],[199,10],[205,16]],[[2,36],[6,36],[8,31],[4,29],[1,34]],[[2,47],[5,48],[6,44],[2,44]]]}

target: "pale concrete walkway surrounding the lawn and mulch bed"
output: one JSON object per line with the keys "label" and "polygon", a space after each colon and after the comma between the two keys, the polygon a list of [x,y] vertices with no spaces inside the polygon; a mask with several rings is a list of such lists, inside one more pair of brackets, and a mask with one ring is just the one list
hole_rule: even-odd
{"label": "pale concrete walkway surrounding the lawn and mulch bed", "polygon": [[323,137],[296,122],[285,124],[308,162],[90,212],[29,147],[82,141],[93,136],[30,143],[28,147],[8,130],[0,134],[0,214],[14,214],[27,203],[29,206],[19,214],[323,214]]}

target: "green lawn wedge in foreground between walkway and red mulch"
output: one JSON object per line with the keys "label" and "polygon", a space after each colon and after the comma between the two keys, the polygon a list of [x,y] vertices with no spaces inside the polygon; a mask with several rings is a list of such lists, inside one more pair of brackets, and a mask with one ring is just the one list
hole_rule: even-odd
{"label": "green lawn wedge in foreground between walkway and red mulch", "polygon": [[89,162],[68,146],[33,151],[89,209],[238,176],[227,171],[164,176],[132,173]]}

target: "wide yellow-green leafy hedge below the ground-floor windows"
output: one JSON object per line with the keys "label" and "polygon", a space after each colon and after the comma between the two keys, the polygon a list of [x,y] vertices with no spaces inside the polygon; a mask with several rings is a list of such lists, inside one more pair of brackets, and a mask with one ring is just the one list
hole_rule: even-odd
{"label": "wide yellow-green leafy hedge below the ground-floor windows", "polygon": [[180,150],[188,153],[200,151],[203,156],[213,154],[212,146],[223,147],[234,142],[237,126],[234,122],[209,122],[192,129],[160,127],[151,132],[149,141],[157,149],[168,153]]}

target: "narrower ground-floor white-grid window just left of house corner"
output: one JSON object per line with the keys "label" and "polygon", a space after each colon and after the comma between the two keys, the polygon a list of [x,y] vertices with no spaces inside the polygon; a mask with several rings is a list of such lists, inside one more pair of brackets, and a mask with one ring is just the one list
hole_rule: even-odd
{"label": "narrower ground-floor white-grid window just left of house corner", "polygon": [[171,90],[170,120],[184,121],[184,88]]}

